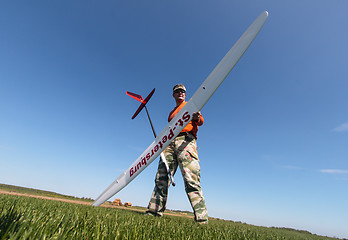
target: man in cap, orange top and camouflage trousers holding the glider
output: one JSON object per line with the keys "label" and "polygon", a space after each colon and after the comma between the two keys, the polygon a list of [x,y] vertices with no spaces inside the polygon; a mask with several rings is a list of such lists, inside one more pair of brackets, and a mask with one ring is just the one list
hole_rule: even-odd
{"label": "man in cap, orange top and camouflage trousers holding the glider", "polygon": [[[173,97],[176,107],[170,112],[168,122],[185,106],[186,88],[182,84],[175,85]],[[200,166],[197,154],[197,131],[204,118],[200,112],[192,114],[192,120],[181,131],[181,133],[163,151],[168,162],[171,174],[174,176],[178,166],[185,183],[185,191],[194,211],[195,221],[199,223],[208,222],[208,213],[200,184]],[[169,179],[166,167],[162,161],[159,162],[158,171],[147,214],[162,216],[166,209]]]}

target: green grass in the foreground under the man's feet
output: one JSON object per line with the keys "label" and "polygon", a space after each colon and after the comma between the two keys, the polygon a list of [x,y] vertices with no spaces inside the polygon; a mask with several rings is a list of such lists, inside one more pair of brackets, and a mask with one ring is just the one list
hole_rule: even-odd
{"label": "green grass in the foreground under the man's feet", "polygon": [[0,239],[332,239],[292,229],[0,195]]}

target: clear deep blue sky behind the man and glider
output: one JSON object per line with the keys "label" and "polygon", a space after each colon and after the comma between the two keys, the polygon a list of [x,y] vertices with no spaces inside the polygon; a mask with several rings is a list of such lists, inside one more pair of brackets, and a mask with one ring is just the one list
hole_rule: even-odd
{"label": "clear deep blue sky behind the man and glider", "polygon": [[[348,1],[2,1],[0,183],[96,198],[264,10],[202,109],[210,216],[348,237]],[[147,206],[157,160],[116,195]],[[169,209],[191,210],[182,177]],[[112,198],[113,199],[113,198]]]}

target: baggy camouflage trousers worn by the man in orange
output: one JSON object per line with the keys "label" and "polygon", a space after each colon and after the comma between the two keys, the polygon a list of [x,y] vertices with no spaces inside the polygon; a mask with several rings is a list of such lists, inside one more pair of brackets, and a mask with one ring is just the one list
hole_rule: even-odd
{"label": "baggy camouflage trousers worn by the man in orange", "polygon": [[[191,134],[176,137],[163,153],[173,176],[178,166],[180,167],[185,183],[185,191],[193,208],[195,220],[208,220],[207,208],[200,184],[200,166],[196,139]],[[155,184],[148,211],[162,216],[166,209],[170,185],[167,170],[162,161],[158,164]]]}

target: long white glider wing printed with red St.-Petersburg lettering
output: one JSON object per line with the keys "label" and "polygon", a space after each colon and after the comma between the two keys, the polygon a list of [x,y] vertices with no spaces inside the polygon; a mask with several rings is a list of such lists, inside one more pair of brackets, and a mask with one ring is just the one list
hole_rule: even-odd
{"label": "long white glider wing printed with red St.-Petersburg lettering", "polygon": [[[155,141],[139,156],[137,160],[124,171],[94,202],[93,206],[99,206],[111,198],[136,176],[138,176],[149,164],[151,164],[169,145],[169,143],[182,131],[191,121],[192,114],[200,111],[214,94],[216,89],[225,80],[232,68],[248,49],[251,42],[266,22],[268,12],[265,11],[250,25],[239,40],[227,52],[225,57],[206,78],[196,93],[180,110],[180,112],[168,123],[168,125],[157,135]],[[145,99],[146,100],[146,99]],[[141,109],[140,109],[141,110]],[[139,112],[140,112],[139,110]]]}

